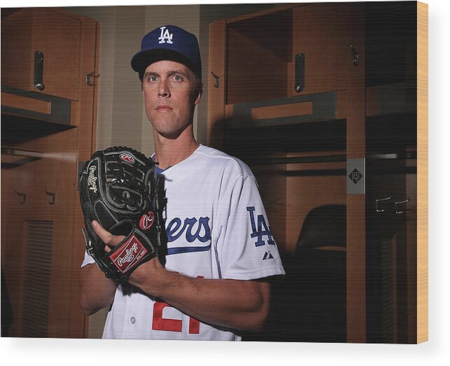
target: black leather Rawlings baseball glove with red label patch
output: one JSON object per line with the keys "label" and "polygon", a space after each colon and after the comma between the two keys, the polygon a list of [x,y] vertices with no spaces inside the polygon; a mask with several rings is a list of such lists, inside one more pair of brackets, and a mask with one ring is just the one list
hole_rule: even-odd
{"label": "black leather Rawlings baseball glove with red label patch", "polygon": [[[106,277],[127,280],[134,269],[157,255],[162,219],[152,159],[129,147],[96,151],[80,173],[80,203],[87,254]],[[92,220],[125,239],[105,252]]]}

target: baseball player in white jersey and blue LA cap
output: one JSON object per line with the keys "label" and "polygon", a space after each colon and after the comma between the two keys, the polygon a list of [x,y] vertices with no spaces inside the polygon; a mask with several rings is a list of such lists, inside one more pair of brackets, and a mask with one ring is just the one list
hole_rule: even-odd
{"label": "baseball player in white jersey and blue LA cap", "polygon": [[[89,315],[111,305],[104,338],[240,340],[237,330],[262,329],[269,277],[284,274],[255,177],[237,158],[195,140],[203,91],[195,35],[174,25],[154,29],[132,68],[164,179],[165,265],[151,259],[117,285],[85,255],[80,306]],[[107,248],[123,238],[92,225]]]}

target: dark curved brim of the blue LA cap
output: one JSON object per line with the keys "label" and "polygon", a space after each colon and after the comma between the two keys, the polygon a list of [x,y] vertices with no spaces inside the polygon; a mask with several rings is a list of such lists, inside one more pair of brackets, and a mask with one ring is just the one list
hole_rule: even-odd
{"label": "dark curved brim of the blue LA cap", "polygon": [[188,57],[185,57],[185,55],[182,55],[181,53],[178,53],[174,50],[167,50],[165,48],[153,48],[152,50],[143,50],[139,53],[136,53],[136,55],[134,55],[132,58],[132,69],[134,69],[135,72],[139,73],[139,79],[142,80],[143,74],[145,73],[148,65],[153,64],[153,62],[162,60],[180,62],[181,64],[189,67],[192,72],[198,74],[198,70],[195,70],[193,68],[192,61],[190,61]]}

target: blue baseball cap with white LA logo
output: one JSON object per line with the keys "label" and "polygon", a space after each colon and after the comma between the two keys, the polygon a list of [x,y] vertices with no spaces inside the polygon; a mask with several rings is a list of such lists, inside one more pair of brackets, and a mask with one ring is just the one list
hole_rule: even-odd
{"label": "blue baseball cap with white LA logo", "polygon": [[202,80],[202,60],[195,34],[176,25],[162,25],[148,32],[141,41],[141,50],[132,58],[132,68],[142,80],[148,65],[161,60],[180,62]]}

